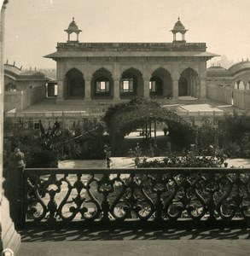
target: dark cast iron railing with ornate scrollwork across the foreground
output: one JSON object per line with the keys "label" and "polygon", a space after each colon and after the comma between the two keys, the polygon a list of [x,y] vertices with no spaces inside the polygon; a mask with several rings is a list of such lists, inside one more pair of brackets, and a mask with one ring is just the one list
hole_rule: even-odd
{"label": "dark cast iron railing with ornate scrollwork across the foreground", "polygon": [[25,169],[23,222],[250,219],[250,169]]}

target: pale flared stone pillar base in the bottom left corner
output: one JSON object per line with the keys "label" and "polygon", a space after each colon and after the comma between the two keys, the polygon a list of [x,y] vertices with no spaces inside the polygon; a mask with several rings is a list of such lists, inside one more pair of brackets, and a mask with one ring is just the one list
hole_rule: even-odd
{"label": "pale flared stone pillar base in the bottom left corner", "polygon": [[1,241],[0,250],[3,252],[5,249],[10,249],[17,255],[20,248],[20,235],[15,230],[15,225],[9,217],[9,201],[3,195],[1,210]]}

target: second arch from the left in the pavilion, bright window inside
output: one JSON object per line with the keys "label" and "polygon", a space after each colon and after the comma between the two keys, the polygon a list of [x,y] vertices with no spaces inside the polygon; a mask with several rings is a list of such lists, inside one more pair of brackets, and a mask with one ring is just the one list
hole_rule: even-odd
{"label": "second arch from the left in the pavilion, bright window inside", "polygon": [[108,69],[101,67],[96,70],[91,79],[91,97],[93,99],[108,99],[113,96],[113,77]]}

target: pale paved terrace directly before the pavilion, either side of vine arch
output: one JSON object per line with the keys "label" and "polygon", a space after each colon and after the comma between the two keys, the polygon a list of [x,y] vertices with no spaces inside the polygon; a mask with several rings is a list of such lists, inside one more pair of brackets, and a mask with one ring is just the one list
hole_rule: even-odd
{"label": "pale paved terrace directly before the pavilion, either side of vine arch", "polygon": [[[180,97],[178,100],[158,100],[163,108],[177,110],[177,113],[183,117],[185,116],[212,116],[220,115],[224,112],[232,112],[234,107],[231,105],[225,105],[221,102],[214,102],[211,100],[200,101],[194,97],[184,96]],[[115,102],[113,102],[115,103]],[[78,113],[78,116],[90,116],[90,115],[102,115],[108,108],[110,102],[108,101],[96,101],[96,102],[67,102],[63,104],[56,104],[55,98],[47,98],[41,102],[26,108],[22,112],[8,113],[9,117],[15,117],[15,114],[23,114],[26,117],[32,117],[36,114],[44,113],[46,116],[58,116],[59,113],[65,113],[67,116],[75,115],[73,113]],[[46,113],[46,115],[45,115]],[[61,116],[61,115],[60,115]]]}

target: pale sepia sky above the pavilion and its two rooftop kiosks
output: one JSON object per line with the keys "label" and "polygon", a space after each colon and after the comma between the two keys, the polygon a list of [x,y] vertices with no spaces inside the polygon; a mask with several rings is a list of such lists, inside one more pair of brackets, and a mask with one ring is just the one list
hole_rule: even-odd
{"label": "pale sepia sky above the pavilion and its two rooftop kiosks", "polygon": [[64,30],[73,16],[83,43],[171,43],[170,30],[180,17],[189,30],[187,43],[206,43],[207,51],[230,61],[250,60],[249,9],[249,0],[9,0],[4,62],[55,68],[55,61],[43,56],[67,41]]}

